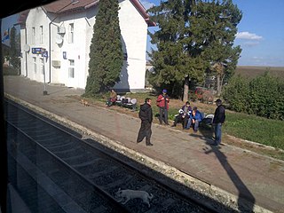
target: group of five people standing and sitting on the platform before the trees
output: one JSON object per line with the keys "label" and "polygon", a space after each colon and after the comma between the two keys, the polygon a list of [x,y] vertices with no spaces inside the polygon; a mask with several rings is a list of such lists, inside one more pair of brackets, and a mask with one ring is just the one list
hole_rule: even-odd
{"label": "group of five people standing and sitting on the platform before the trees", "polygon": [[[213,146],[218,146],[221,143],[222,135],[222,125],[225,122],[225,106],[222,105],[222,100],[217,99],[217,108],[214,113],[213,125],[215,130],[215,138]],[[168,110],[169,110],[170,98],[167,94],[167,90],[162,90],[162,94],[158,96],[156,100],[157,106],[159,106],[159,122],[162,124],[164,122],[169,125],[168,122]],[[140,143],[144,138],[146,138],[146,146],[153,146],[151,143],[151,125],[153,122],[153,111],[152,111],[152,100],[147,98],[145,103],[140,106],[139,118],[141,119],[141,126],[138,131],[137,143]],[[199,128],[199,124],[202,121],[203,116],[196,106],[190,106],[189,101],[185,102],[185,105],[181,107],[173,123],[173,127],[177,125],[177,122],[183,124],[183,129],[189,130],[193,125],[193,130],[196,132]]]}

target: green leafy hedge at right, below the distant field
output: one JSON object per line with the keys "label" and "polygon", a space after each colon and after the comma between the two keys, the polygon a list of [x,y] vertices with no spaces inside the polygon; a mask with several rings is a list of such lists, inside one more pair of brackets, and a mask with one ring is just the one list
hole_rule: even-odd
{"label": "green leafy hedge at right, below the distant field", "polygon": [[234,76],[223,97],[236,112],[284,120],[284,83],[268,72],[252,80]]}

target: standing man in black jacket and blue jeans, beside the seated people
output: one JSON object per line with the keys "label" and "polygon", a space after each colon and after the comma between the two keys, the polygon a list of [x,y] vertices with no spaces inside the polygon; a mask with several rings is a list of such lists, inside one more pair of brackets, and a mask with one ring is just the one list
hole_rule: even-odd
{"label": "standing man in black jacket and blue jeans, beside the seated people", "polygon": [[221,144],[222,125],[225,122],[225,106],[222,105],[222,100],[217,99],[216,110],[213,118],[213,125],[215,127],[215,146]]}

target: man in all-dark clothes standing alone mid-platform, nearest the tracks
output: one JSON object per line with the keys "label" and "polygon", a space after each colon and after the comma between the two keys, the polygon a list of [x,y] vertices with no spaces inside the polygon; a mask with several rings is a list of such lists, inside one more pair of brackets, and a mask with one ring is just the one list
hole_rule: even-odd
{"label": "man in all-dark clothes standing alone mid-platform, nearest the tracks", "polygon": [[146,146],[153,146],[150,139],[152,135],[151,124],[153,122],[153,111],[151,106],[152,100],[145,99],[145,103],[140,106],[139,118],[141,119],[141,127],[138,132],[137,143],[146,138]]}

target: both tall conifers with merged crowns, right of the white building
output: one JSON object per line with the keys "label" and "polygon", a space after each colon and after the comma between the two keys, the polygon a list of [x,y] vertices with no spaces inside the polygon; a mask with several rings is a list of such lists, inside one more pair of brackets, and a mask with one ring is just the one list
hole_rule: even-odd
{"label": "both tall conifers with merged crowns, right of the white building", "polygon": [[217,79],[232,72],[241,54],[233,47],[241,12],[232,0],[167,0],[149,12],[159,27],[150,33],[157,86],[169,85],[179,97],[184,91],[185,100],[189,79],[202,83],[208,70]]}

